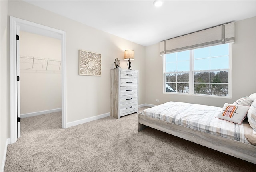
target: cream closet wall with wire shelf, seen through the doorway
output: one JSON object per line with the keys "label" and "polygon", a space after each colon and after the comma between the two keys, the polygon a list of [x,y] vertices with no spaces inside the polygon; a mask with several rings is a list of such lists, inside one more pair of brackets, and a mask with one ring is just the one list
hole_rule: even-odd
{"label": "cream closet wall with wire shelf, seen through the doorway", "polygon": [[[20,56],[61,61],[61,40],[20,31]],[[61,108],[60,62],[32,62],[20,58],[20,114]]]}

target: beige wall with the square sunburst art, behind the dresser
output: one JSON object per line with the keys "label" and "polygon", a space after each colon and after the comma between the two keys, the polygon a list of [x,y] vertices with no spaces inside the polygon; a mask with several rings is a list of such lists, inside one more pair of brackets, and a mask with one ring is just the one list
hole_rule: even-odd
{"label": "beige wall with the square sunburst art, behind the dresser", "polygon": [[[145,47],[112,34],[96,30],[74,20],[54,14],[23,1],[8,1],[8,17],[14,16],[52,28],[66,31],[67,61],[67,122],[74,122],[110,112],[110,69],[114,59],[120,59],[120,66],[127,69],[123,60],[124,50],[132,49],[135,60],[132,69],[139,70],[139,104],[145,102]],[[8,30],[9,28],[8,19]],[[10,44],[8,31],[8,47]],[[102,55],[101,76],[78,75],[79,50],[87,50]],[[10,53],[8,52],[8,58]],[[10,64],[7,64],[8,71]],[[10,72],[8,72],[10,78]],[[8,84],[10,87],[10,84]],[[10,104],[8,104],[10,108]],[[10,121],[10,116],[8,116]],[[9,124],[9,122],[8,122]],[[8,125],[8,137],[10,137]]]}

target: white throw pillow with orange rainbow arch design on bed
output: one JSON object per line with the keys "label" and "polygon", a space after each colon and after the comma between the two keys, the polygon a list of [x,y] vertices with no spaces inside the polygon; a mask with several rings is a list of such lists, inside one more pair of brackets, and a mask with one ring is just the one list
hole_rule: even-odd
{"label": "white throw pillow with orange rainbow arch design on bed", "polygon": [[249,108],[249,106],[225,103],[222,111],[216,116],[216,118],[241,124]]}

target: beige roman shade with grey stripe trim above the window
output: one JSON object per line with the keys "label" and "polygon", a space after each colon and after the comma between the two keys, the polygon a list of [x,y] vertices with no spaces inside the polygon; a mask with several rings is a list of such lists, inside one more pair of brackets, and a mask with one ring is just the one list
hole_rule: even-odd
{"label": "beige roman shade with grey stripe trim above the window", "polygon": [[160,55],[235,42],[235,23],[223,24],[160,42]]}

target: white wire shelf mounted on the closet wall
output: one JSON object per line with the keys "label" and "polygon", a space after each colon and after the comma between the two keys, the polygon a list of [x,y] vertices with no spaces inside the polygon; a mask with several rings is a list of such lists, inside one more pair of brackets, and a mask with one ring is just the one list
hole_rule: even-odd
{"label": "white wire shelf mounted on the closet wall", "polygon": [[26,70],[61,70],[61,60],[52,58],[40,58],[32,56],[20,56],[20,66]]}

